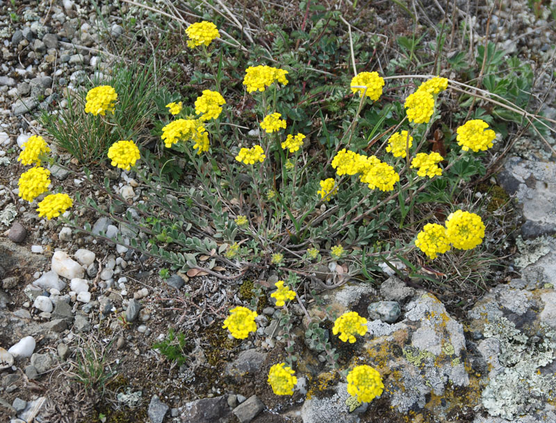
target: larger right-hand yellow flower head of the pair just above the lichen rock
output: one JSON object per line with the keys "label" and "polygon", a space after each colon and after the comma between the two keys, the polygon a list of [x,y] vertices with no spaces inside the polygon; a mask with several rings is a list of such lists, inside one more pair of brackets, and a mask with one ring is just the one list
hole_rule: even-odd
{"label": "larger right-hand yellow flower head of the pair just above the lichen rock", "polygon": [[457,249],[473,249],[484,238],[484,224],[479,215],[457,210],[445,222],[446,236]]}

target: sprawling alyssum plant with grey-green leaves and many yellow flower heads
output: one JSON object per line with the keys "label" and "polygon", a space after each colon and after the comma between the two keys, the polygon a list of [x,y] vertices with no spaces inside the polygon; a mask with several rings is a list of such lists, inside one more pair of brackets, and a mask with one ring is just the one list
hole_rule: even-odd
{"label": "sprawling alyssum plant with grey-green leaves and many yellow flower heads", "polygon": [[[120,217],[103,210],[95,199],[76,195],[79,204],[142,231],[146,239],[131,239],[132,248],[161,258],[173,269],[205,269],[224,279],[236,279],[250,268],[274,266],[278,272],[289,272],[288,282],[276,283],[272,294],[276,305],[283,307],[282,323],[287,330],[290,301],[297,300],[306,313],[295,292],[295,274],[310,274],[311,266],[317,262],[347,263],[349,274],[353,275],[362,260],[399,257],[415,247],[432,260],[450,249],[468,250],[481,244],[485,233],[481,217],[459,209],[454,209],[443,224],[424,224],[407,244],[389,245],[381,239],[381,234],[395,226],[398,219],[402,226],[415,204],[425,199],[434,201],[434,196],[422,197],[421,193],[433,187],[435,181],[445,180],[434,187],[436,192],[453,193],[462,177],[482,171],[473,154],[492,147],[496,134],[480,119],[468,120],[457,128],[455,138],[461,149],[452,149],[445,157],[437,151],[423,151],[432,124],[441,119],[443,92],[454,81],[429,78],[405,99],[403,107],[393,105],[382,110],[381,122],[386,114],[398,110],[397,125],[382,133],[375,130],[363,135],[358,130],[361,110],[375,106],[382,96],[385,78],[377,72],[357,74],[354,69],[350,90],[358,100],[350,106],[351,121],[332,129],[321,119],[320,131],[326,131],[331,142],[320,154],[309,156],[304,144],[309,140],[306,129],[311,130],[311,124],[288,124],[283,118],[284,110],[293,101],[288,78],[295,75],[261,64],[245,69],[243,85],[246,95],[254,100],[254,113],[259,120],[258,131],[254,131],[256,140],[251,140],[240,134],[242,127],[232,122],[232,113],[227,110],[227,88],[222,85],[220,72],[222,55],[218,67],[213,64],[211,42],[218,38],[218,28],[211,22],[200,22],[191,25],[187,34],[188,46],[200,47],[199,63],[212,70],[214,86],[204,90],[193,105],[184,106],[183,101],[167,104],[168,115],[159,125],[159,135],[173,156],[155,160],[133,140],[115,142],[108,150],[113,166],[124,171],[133,169],[136,178],[147,187],[143,190],[144,201],[134,206],[138,215],[127,213]],[[117,97],[109,85],[93,88],[87,94],[84,113],[111,119]],[[384,142],[374,147],[379,140]],[[29,151],[26,149],[24,154]],[[182,157],[195,174],[195,183],[188,187],[174,179],[174,172],[165,172]],[[47,190],[49,181],[44,178],[48,175],[41,172],[24,174],[19,181],[19,194],[28,201]],[[97,184],[89,172],[85,174],[90,183]],[[104,189],[116,201],[123,201],[108,179]],[[67,201],[60,204],[57,214],[69,206]],[[46,215],[51,218],[56,213]],[[76,229],[91,231],[90,225],[81,228],[77,219],[63,219]],[[121,235],[114,241],[124,242]],[[208,254],[213,260],[207,267],[200,267],[198,254]],[[238,269],[238,274],[213,272],[217,260]],[[238,306],[229,313],[224,328],[234,338],[245,339],[256,331],[255,311]],[[337,354],[316,331],[308,313],[306,316],[308,335],[315,335],[334,364]],[[366,320],[348,311],[335,320],[332,332],[339,334],[343,342],[352,343],[356,342],[356,335],[364,336],[366,331]],[[292,342],[288,337],[287,363],[272,366],[268,375],[277,395],[293,394],[297,383]],[[370,401],[381,395],[384,385],[373,367],[361,365],[346,373],[343,376],[348,382],[347,390],[357,401]]]}

